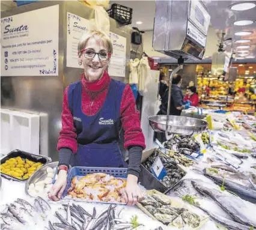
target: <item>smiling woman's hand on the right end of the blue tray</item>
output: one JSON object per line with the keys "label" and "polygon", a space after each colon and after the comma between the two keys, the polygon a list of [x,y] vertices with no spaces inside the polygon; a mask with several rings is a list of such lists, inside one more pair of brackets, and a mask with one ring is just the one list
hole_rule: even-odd
{"label": "smiling woman's hand on the right end of the blue tray", "polygon": [[124,198],[127,205],[135,205],[143,198],[141,189],[138,186],[138,177],[135,175],[129,174],[127,177]]}

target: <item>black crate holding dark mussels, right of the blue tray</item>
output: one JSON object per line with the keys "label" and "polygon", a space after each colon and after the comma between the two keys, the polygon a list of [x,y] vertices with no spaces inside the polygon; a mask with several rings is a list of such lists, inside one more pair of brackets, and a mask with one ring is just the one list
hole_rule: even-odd
{"label": "black crate holding dark mussels, right of the blue tray", "polygon": [[[150,150],[144,151],[142,153],[141,163],[144,163],[145,160],[147,160],[148,157],[150,157],[154,151],[158,151],[160,155],[166,157],[166,154],[163,154],[158,148],[151,148]],[[177,165],[177,167],[178,169],[186,173],[186,171],[184,171],[184,169],[181,168],[179,165]],[[182,178],[180,179],[180,181],[181,180]],[[178,184],[180,181],[178,181],[176,184]],[[148,171],[143,165],[141,165],[141,174],[139,174],[139,182],[147,190],[156,189],[157,191],[164,194],[168,193],[169,190],[172,189],[172,187],[176,186],[176,184],[174,184],[172,187],[166,187],[161,181],[154,177],[154,175],[150,171]]]}

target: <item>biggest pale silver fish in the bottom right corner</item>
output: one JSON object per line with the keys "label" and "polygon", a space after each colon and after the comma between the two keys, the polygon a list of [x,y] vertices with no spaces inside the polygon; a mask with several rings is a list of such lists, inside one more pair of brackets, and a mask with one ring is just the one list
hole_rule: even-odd
{"label": "biggest pale silver fish in the bottom right corner", "polygon": [[[199,192],[210,196],[236,222],[256,228],[256,206],[254,204],[243,201],[239,197],[219,192],[216,189],[208,189],[203,184],[195,183],[195,181],[191,181],[191,183]],[[248,213],[248,210],[250,210],[250,213]]]}

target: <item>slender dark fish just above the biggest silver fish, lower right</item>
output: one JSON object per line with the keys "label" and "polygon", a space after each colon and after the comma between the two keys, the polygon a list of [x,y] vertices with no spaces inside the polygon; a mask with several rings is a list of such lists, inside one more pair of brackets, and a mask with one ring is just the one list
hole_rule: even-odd
{"label": "slender dark fish just above the biggest silver fish, lower right", "polygon": [[217,174],[209,174],[207,171],[206,176],[212,178],[212,180],[215,181],[219,186],[222,186],[224,181],[226,190],[236,193],[236,195],[240,196],[240,198],[256,204],[256,191],[254,189],[250,189],[249,187],[243,186],[242,184],[238,184],[229,180],[228,178],[224,179],[219,177]]}

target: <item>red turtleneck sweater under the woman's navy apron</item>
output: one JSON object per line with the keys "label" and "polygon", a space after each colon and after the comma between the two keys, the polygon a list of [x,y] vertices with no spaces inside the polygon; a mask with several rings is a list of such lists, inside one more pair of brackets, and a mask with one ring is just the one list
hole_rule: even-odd
{"label": "red turtleneck sweater under the woman's navy apron", "polygon": [[[96,114],[102,107],[106,95],[108,93],[111,77],[108,73],[104,73],[102,78],[95,82],[88,82],[84,74],[82,80],[82,112],[85,115]],[[58,151],[61,148],[69,148],[73,153],[76,153],[78,142],[76,141],[76,128],[73,124],[72,113],[69,110],[69,102],[67,92],[69,86],[64,91],[63,110],[61,115],[62,129],[59,133]],[[124,129],[124,148],[132,146],[141,146],[145,148],[145,139],[141,130],[139,121],[139,111],[136,110],[135,98],[133,97],[132,89],[126,85],[121,99],[120,118]]]}

